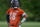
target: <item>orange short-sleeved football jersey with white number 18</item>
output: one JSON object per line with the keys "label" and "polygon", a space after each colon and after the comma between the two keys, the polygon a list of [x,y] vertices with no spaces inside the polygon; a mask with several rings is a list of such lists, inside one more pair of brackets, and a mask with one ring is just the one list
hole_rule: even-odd
{"label": "orange short-sleeved football jersey with white number 18", "polygon": [[23,13],[24,11],[19,8],[17,8],[16,10],[13,10],[13,8],[10,8],[7,12],[7,14],[10,15],[10,25],[11,24],[16,25],[20,21],[20,18]]}

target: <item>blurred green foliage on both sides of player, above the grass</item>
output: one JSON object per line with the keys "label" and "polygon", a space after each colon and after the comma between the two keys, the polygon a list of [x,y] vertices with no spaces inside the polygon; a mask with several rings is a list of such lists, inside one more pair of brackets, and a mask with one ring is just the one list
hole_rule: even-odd
{"label": "blurred green foliage on both sides of player, above the grass", "polygon": [[[0,0],[0,21],[6,20],[11,0]],[[19,0],[20,8],[28,14],[28,21],[40,21],[40,0]]]}

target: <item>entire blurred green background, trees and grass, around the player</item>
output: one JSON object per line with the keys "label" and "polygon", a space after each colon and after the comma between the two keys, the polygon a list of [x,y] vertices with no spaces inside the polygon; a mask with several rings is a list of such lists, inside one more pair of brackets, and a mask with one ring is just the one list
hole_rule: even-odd
{"label": "entire blurred green background, trees and grass, around the player", "polygon": [[[40,0],[19,0],[19,4],[28,15],[22,27],[40,27]],[[0,0],[0,27],[8,27],[6,14],[10,6],[11,0]]]}

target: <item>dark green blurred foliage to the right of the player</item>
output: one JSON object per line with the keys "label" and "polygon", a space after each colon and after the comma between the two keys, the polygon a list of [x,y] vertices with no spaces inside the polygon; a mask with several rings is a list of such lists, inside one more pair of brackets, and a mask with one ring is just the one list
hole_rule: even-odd
{"label": "dark green blurred foliage to the right of the player", "polygon": [[28,14],[28,21],[40,21],[40,0],[22,0],[21,8]]}

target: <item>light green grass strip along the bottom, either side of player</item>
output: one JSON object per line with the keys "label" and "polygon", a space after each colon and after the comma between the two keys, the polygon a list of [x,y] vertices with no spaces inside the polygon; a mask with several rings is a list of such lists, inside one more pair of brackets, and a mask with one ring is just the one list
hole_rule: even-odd
{"label": "light green grass strip along the bottom, either side of player", "polygon": [[[0,22],[0,27],[8,27],[6,22]],[[25,22],[22,27],[40,27],[40,22]]]}

